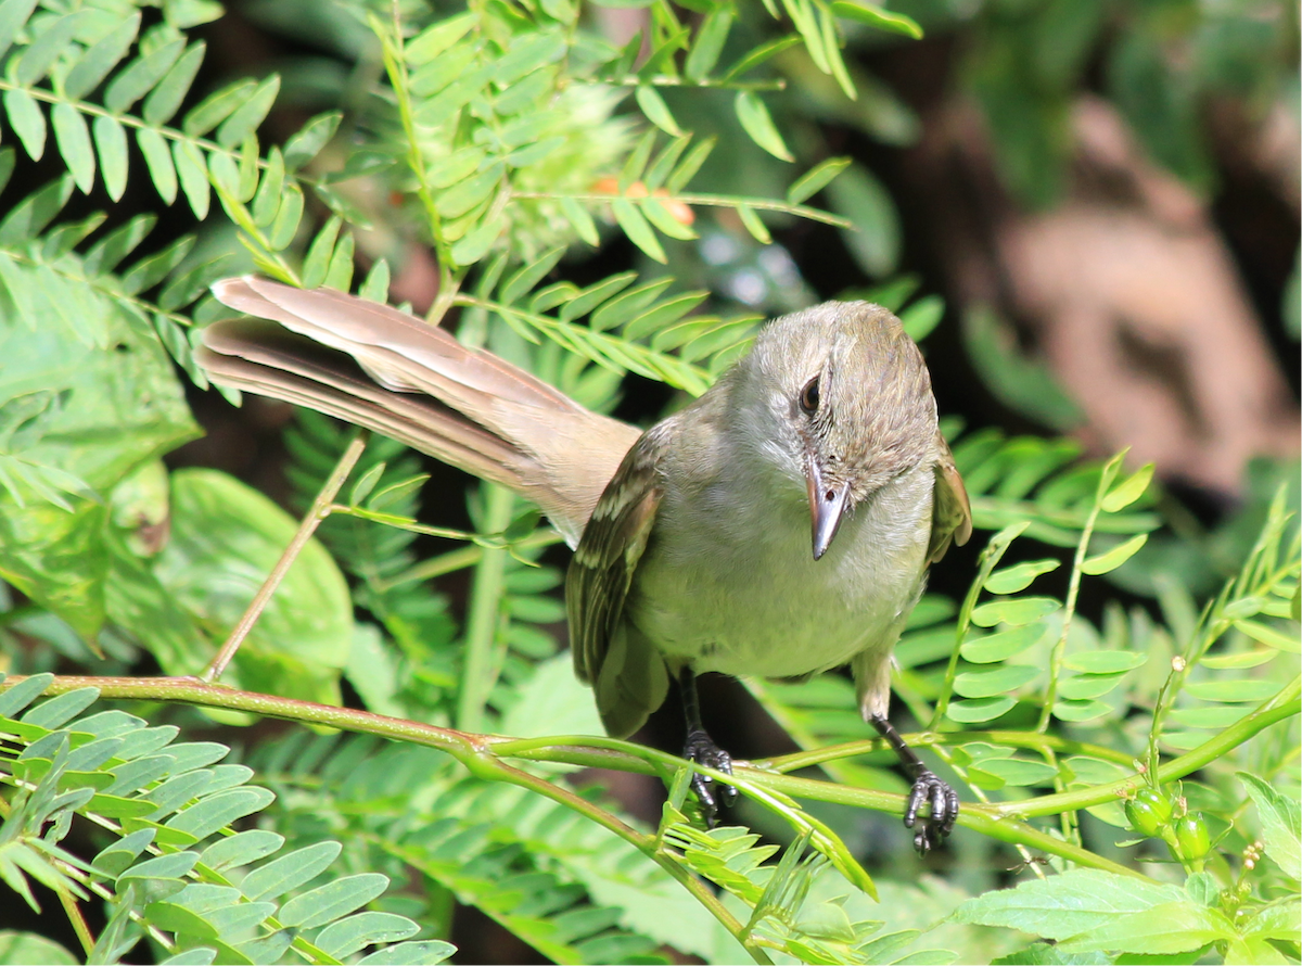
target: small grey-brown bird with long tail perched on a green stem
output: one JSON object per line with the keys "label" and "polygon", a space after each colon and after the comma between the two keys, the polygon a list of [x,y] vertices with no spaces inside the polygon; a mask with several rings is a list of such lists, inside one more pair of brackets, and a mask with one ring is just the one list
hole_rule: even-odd
{"label": "small grey-brown bird with long tail perched on a green stem", "polygon": [[[926,363],[885,309],[825,302],[768,323],[700,398],[639,432],[387,306],[256,277],[214,293],[258,316],[204,329],[198,359],[215,383],[392,436],[551,518],[575,547],[574,669],[609,734],[633,734],[676,680],[685,755],[729,772],[700,725],[697,674],[849,664],[865,719],[913,772],[905,824],[931,806],[915,845],[953,828],[958,797],[887,707],[927,568],[967,540],[971,513]],[[712,782],[694,788],[712,816]]]}

